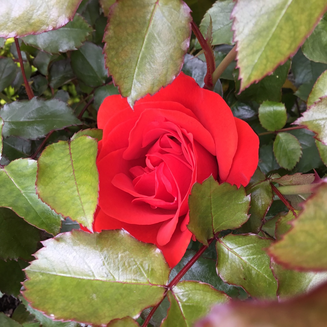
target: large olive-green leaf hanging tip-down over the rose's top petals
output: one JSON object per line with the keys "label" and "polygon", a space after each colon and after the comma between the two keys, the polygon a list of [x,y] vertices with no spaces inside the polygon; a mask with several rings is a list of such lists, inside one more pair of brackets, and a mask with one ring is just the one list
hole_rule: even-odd
{"label": "large olive-green leaf hanging tip-down over the rose's top petals", "polygon": [[179,74],[190,21],[190,9],[176,0],[125,0],[112,7],[104,36],[106,65],[130,105]]}

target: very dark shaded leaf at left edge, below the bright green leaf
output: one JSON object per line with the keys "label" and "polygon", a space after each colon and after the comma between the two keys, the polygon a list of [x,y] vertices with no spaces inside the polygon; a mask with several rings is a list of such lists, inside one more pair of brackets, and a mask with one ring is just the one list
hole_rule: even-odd
{"label": "very dark shaded leaf at left edge, below the bright green leaf", "polygon": [[12,210],[0,207],[0,258],[33,260],[40,231],[17,216]]}

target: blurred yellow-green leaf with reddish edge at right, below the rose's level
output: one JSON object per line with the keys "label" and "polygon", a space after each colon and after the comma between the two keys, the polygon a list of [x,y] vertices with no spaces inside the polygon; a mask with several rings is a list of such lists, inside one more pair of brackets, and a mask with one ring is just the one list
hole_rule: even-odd
{"label": "blurred yellow-green leaf with reddish edge at right, below the rose's level", "polygon": [[327,270],[327,184],[319,186],[302,206],[301,214],[292,222],[294,227],[270,247],[269,253],[288,268]]}

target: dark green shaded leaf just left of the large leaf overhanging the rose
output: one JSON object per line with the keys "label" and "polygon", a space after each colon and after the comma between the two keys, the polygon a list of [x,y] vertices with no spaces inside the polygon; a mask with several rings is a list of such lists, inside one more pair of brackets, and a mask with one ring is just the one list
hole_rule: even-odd
{"label": "dark green shaded leaf just left of the large leaf overhanging the rose", "polygon": [[108,78],[102,48],[91,42],[85,42],[72,52],[71,66],[77,78],[88,86],[100,86]]}

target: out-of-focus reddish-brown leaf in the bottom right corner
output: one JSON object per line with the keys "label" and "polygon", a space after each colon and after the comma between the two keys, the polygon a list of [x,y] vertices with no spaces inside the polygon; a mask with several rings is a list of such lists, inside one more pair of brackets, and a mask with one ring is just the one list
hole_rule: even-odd
{"label": "out-of-focus reddish-brown leaf in the bottom right corner", "polygon": [[325,327],[327,284],[290,301],[238,301],[215,306],[195,327]]}

